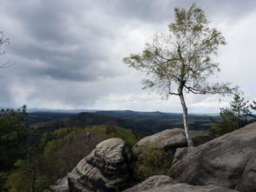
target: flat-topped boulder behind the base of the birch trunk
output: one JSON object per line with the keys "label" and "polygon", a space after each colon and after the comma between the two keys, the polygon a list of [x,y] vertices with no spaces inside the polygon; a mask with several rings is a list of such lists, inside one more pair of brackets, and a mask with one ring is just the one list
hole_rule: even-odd
{"label": "flat-topped boulder behind the base of the birch trunk", "polygon": [[[190,131],[190,134],[195,146],[216,138],[216,136],[209,131]],[[178,147],[187,147],[187,139],[183,128],[167,129],[140,139],[140,141],[132,147],[132,155],[134,157],[138,156],[140,150],[143,150],[143,147],[146,145],[164,147],[165,150],[170,150],[175,153]]]}

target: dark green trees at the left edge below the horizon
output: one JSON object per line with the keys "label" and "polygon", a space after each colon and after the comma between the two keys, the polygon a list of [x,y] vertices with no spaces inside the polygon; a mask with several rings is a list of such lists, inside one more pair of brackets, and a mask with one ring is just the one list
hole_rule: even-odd
{"label": "dark green trees at the left edge below the horizon", "polygon": [[26,116],[26,105],[17,111],[2,109],[0,112],[0,191],[7,190],[4,183],[15,161],[25,158],[28,147],[24,143],[32,130],[21,122]]}

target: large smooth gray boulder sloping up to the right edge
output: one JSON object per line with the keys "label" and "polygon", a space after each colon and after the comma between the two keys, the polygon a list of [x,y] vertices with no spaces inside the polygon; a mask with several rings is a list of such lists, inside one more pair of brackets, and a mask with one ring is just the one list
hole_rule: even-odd
{"label": "large smooth gray boulder sloping up to the right edge", "polygon": [[256,191],[256,123],[177,152],[170,177],[178,183]]}

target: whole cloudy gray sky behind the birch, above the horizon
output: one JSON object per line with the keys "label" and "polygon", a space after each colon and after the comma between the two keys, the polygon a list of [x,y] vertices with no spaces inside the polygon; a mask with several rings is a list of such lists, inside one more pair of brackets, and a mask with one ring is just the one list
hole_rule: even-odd
{"label": "whole cloudy gray sky behind the birch, above the horizon", "polygon": [[[256,1],[198,0],[222,31],[218,78],[256,99]],[[174,8],[189,0],[1,0],[0,107],[181,112],[177,96],[142,90],[142,72],[122,61],[151,37],[168,33]],[[185,95],[188,112],[219,112],[231,98]]]}

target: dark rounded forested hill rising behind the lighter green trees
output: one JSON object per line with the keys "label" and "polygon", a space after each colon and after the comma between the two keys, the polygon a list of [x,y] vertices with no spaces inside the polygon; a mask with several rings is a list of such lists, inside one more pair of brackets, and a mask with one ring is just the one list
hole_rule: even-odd
{"label": "dark rounded forested hill rising behind the lighter green trees", "polygon": [[66,128],[73,126],[85,127],[102,124],[132,129],[143,135],[154,134],[155,132],[153,129],[143,126],[141,123],[92,112],[80,112],[75,115],[70,115],[67,118],[59,118],[49,122],[34,123],[32,126],[34,126],[34,128],[38,128],[39,130],[52,131],[56,128]]}

